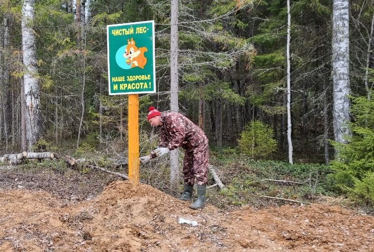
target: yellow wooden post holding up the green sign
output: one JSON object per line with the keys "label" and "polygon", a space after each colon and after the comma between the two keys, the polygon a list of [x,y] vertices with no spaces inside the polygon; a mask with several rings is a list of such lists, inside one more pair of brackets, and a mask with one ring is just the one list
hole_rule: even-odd
{"label": "yellow wooden post holding up the green sign", "polygon": [[128,179],[139,185],[139,97],[128,95]]}

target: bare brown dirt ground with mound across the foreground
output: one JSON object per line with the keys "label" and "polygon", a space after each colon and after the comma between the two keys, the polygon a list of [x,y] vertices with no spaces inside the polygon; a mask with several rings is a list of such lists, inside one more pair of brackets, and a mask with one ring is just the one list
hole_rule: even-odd
{"label": "bare brown dirt ground with mound across the foreground", "polygon": [[192,210],[146,184],[39,173],[0,172],[1,252],[374,252],[374,217],[336,205]]}

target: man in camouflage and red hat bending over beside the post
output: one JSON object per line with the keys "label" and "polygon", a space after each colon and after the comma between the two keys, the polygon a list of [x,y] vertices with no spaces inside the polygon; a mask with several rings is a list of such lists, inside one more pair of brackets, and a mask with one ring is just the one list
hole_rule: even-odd
{"label": "man in camouflage and red hat bending over beside the post", "polygon": [[183,160],[184,191],[179,200],[192,199],[193,185],[196,184],[197,200],[189,205],[198,209],[205,204],[208,174],[209,146],[204,131],[186,116],[178,112],[160,112],[149,107],[147,116],[151,126],[160,128],[160,144],[147,156],[139,158],[141,163],[162,156],[172,150],[185,149]]}

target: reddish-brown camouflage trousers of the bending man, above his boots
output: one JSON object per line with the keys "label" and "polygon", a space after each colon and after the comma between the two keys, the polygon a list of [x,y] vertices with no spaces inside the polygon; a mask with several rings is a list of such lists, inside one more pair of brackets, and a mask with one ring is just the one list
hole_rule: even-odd
{"label": "reddish-brown camouflage trousers of the bending man, above his boots", "polygon": [[206,185],[208,175],[208,144],[186,150],[183,160],[183,178],[186,185]]}

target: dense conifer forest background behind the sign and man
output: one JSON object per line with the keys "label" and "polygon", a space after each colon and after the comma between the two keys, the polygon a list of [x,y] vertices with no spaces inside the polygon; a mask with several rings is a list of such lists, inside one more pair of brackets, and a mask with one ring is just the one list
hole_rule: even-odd
{"label": "dense conifer forest background behind the sign and man", "polygon": [[[0,152],[15,153],[30,149],[23,110],[23,2],[0,2]],[[33,150],[124,155],[127,97],[108,96],[106,25],[154,20],[157,93],[139,97],[140,151],[152,150],[157,132],[146,123],[147,108],[170,109],[170,1],[31,2],[41,111],[41,135]],[[212,151],[235,152],[246,126],[260,121],[277,146],[261,158],[287,160],[286,2],[179,1],[179,110],[203,128]],[[373,4],[358,0],[349,7],[351,95],[371,101]],[[336,149],[346,147],[330,144],[334,140],[332,1],[294,0],[290,13],[293,154],[299,163],[328,164]],[[356,101],[354,119],[373,134],[373,118],[360,121],[362,113],[373,113],[373,102],[365,110],[359,108],[365,101]],[[373,160],[373,149],[365,160]],[[374,180],[373,162],[361,162],[360,174],[354,177]],[[373,194],[364,198],[374,201]]]}

